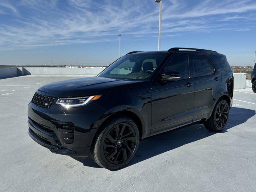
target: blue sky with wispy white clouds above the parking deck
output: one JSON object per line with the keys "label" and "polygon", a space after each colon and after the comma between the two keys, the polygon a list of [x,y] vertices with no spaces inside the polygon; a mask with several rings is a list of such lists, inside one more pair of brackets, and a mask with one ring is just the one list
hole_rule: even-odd
{"label": "blue sky with wispy white clouds above the parking deck", "polygon": [[[134,50],[157,50],[154,0],[0,0],[0,64],[108,65]],[[253,64],[255,0],[162,0],[162,50],[195,47]]]}

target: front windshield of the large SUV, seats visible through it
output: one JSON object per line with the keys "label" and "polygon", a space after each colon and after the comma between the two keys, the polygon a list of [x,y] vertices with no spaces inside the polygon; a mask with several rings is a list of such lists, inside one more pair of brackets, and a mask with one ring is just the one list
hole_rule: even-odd
{"label": "front windshield of the large SUV, seats visible through it", "polygon": [[130,54],[112,63],[99,77],[124,79],[149,79],[167,53]]}

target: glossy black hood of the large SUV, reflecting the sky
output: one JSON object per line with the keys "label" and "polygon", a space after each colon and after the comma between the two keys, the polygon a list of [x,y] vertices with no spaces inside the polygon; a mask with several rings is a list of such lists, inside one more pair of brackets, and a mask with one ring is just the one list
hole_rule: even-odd
{"label": "glossy black hood of the large SUV, reflecting the sky", "polygon": [[142,84],[143,81],[140,80],[87,77],[47,84],[40,87],[37,92],[57,97],[78,97],[103,94],[106,92],[140,86]]}

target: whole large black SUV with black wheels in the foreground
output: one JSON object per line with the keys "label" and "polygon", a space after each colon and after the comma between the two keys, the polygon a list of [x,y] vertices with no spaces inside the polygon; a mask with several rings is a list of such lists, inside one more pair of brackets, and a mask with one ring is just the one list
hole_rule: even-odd
{"label": "whole large black SUV with black wheels in the foreground", "polygon": [[28,133],[54,153],[90,155],[116,170],[143,138],[194,122],[223,130],[233,79],[226,56],[215,51],[130,52],[96,77],[39,88],[28,105]]}

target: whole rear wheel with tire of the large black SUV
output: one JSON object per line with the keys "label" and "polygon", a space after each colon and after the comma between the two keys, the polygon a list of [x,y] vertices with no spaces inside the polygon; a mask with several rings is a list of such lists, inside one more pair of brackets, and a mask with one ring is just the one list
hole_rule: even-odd
{"label": "whole rear wheel with tire of the large black SUV", "polygon": [[221,99],[215,105],[210,118],[204,122],[204,126],[210,131],[220,132],[224,130],[225,126],[227,125],[228,116],[228,102],[224,99]]}

